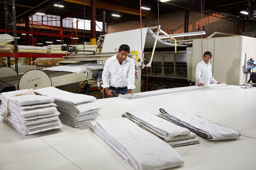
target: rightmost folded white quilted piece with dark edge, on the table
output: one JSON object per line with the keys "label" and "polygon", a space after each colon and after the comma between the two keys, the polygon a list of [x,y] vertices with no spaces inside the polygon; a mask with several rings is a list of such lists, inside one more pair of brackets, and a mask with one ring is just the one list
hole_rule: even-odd
{"label": "rightmost folded white quilted piece with dark edge, on the table", "polygon": [[232,129],[203,119],[179,107],[160,108],[160,112],[159,116],[162,118],[186,127],[201,137],[212,141],[237,139],[240,136],[238,132]]}

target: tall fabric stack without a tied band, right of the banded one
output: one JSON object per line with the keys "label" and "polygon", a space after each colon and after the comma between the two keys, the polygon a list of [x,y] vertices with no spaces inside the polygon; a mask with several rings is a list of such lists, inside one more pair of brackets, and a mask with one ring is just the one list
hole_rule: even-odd
{"label": "tall fabric stack without a tied band, right of the banded one", "polygon": [[88,123],[97,119],[101,105],[95,102],[93,96],[75,94],[55,87],[37,89],[35,94],[51,96],[57,104],[62,123],[73,127],[88,126]]}

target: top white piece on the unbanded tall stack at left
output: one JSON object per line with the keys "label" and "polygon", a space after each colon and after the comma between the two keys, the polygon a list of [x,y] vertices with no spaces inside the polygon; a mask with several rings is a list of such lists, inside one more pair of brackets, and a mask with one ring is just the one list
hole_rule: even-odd
{"label": "top white piece on the unbanded tall stack at left", "polygon": [[51,96],[59,102],[66,102],[69,104],[79,104],[79,103],[85,103],[85,102],[92,102],[96,100],[96,98],[93,96],[88,96],[84,94],[75,94],[75,93],[59,90],[58,88],[55,88],[55,87],[40,88],[40,89],[34,90],[34,92],[40,95]]}

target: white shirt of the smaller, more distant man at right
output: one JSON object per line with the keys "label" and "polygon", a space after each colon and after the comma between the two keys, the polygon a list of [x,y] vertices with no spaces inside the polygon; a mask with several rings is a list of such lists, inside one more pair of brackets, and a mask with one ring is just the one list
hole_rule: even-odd
{"label": "white shirt of the smaller, more distant man at right", "polygon": [[218,82],[212,77],[211,63],[206,64],[204,60],[196,65],[196,86],[201,83],[217,84]]}

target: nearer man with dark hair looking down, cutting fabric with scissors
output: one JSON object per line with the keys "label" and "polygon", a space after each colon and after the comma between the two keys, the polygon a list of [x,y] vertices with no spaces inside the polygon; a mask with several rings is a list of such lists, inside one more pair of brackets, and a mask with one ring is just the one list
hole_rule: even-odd
{"label": "nearer man with dark hair looking down, cutting fabric with scissors", "polygon": [[[106,60],[102,72],[102,87],[106,94],[113,97],[116,94],[132,94],[134,86],[135,64],[128,57],[130,47],[123,44],[118,53]],[[114,96],[116,97],[116,96]]]}

